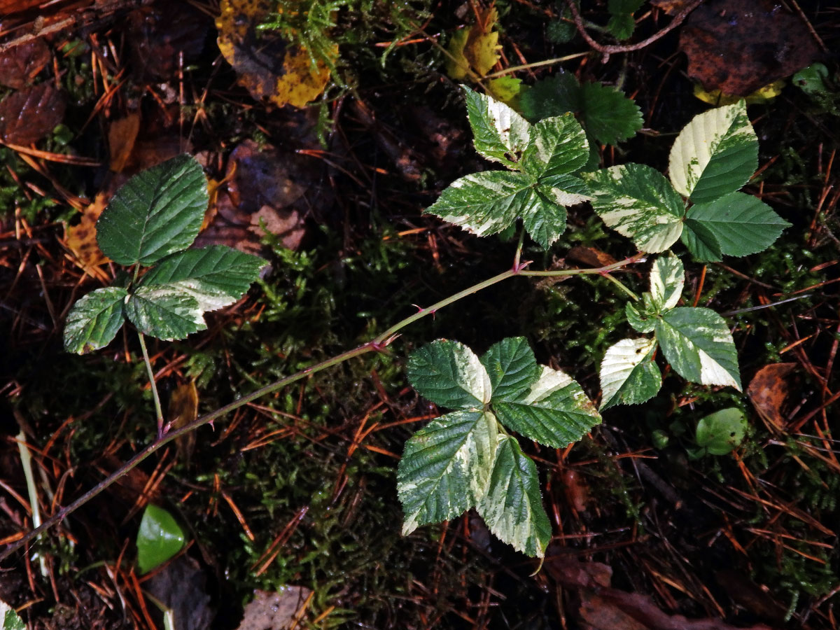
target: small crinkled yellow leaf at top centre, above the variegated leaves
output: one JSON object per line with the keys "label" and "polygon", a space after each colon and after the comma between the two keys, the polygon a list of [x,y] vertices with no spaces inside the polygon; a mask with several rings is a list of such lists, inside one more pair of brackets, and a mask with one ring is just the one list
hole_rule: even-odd
{"label": "small crinkled yellow leaf at top centre, above the variegated leaves", "polygon": [[485,76],[499,60],[499,33],[496,22],[499,13],[495,7],[478,12],[476,23],[469,29],[461,29],[449,39],[449,55],[446,74],[452,79],[463,79],[470,70],[478,76]]}

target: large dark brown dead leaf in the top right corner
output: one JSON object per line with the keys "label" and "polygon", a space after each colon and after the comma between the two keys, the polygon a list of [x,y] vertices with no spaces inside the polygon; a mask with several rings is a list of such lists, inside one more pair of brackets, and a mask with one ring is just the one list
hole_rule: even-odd
{"label": "large dark brown dead leaf in the top right corner", "polygon": [[816,60],[819,50],[801,19],[772,0],[711,0],[680,33],[688,76],[707,92],[747,96]]}

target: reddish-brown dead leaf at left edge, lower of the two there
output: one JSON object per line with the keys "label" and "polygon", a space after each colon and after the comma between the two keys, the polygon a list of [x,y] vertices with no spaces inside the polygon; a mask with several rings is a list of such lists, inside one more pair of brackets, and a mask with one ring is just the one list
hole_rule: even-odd
{"label": "reddish-brown dead leaf at left edge, lower of the two there", "polygon": [[37,142],[64,119],[65,104],[52,83],[9,94],[0,102],[0,138],[24,146]]}

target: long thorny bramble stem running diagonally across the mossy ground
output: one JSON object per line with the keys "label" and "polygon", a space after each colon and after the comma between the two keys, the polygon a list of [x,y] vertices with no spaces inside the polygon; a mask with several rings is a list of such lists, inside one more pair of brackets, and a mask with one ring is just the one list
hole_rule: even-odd
{"label": "long thorny bramble stem running diagonally across the mossy ground", "polygon": [[[256,391],[252,391],[249,394],[245,394],[244,396],[239,397],[234,402],[230,402],[224,407],[219,407],[216,411],[207,413],[206,415],[193,420],[192,423],[185,424],[181,428],[173,429],[163,435],[159,435],[154,442],[149,444],[149,446],[145,447],[141,450],[138,454],[135,454],[134,457],[129,459],[125,464],[120,466],[117,470],[115,470],[111,475],[109,475],[106,479],[100,481],[96,486],[93,486],[89,491],[85,492],[81,495],[76,501],[73,501],[67,507],[62,507],[58,512],[55,512],[52,517],[47,519],[45,522],[41,523],[41,525],[37,528],[34,528],[31,532],[24,535],[23,538],[19,538],[13,543],[9,543],[8,547],[0,553],[0,561],[8,558],[9,555],[13,554],[17,549],[20,549],[25,544],[29,543],[34,538],[37,538],[41,533],[44,533],[47,529],[54,526],[56,523],[62,521],[72,512],[75,512],[79,507],[83,506],[87,501],[90,501],[94,496],[97,496],[100,492],[104,491],[111,486],[115,481],[118,481],[123,478],[123,476],[128,475],[131,470],[133,470],[140,462],[147,459],[151,454],[162,449],[166,444],[169,444],[172,440],[176,438],[180,438],[182,435],[186,435],[191,431],[195,431],[197,428],[204,426],[205,424],[212,423],[218,417],[222,417],[223,415],[234,411],[235,409],[239,409],[243,405],[255,401],[257,398],[261,396],[265,396],[266,394],[270,394],[274,391],[278,391],[287,385],[291,385],[295,381],[300,381],[301,379],[320,372],[321,370],[326,370],[329,367],[333,367],[333,365],[339,365],[339,363],[344,363],[344,361],[353,359],[354,357],[360,356],[361,354],[366,354],[368,352],[381,352],[388,345],[390,345],[397,337],[396,334],[398,331],[405,328],[408,324],[416,322],[420,318],[424,318],[427,315],[432,315],[435,312],[438,312],[443,307],[449,306],[453,302],[458,302],[461,298],[467,297],[472,295],[477,291],[481,291],[481,289],[486,289],[488,286],[493,286],[503,280],[507,280],[507,278],[512,278],[514,276],[582,276],[582,275],[591,275],[591,274],[600,274],[601,276],[609,277],[609,272],[614,271],[617,269],[621,269],[627,265],[632,265],[635,262],[643,259],[643,254],[637,254],[627,258],[625,260],[621,260],[617,263],[613,263],[612,265],[606,265],[603,267],[597,267],[595,269],[563,269],[563,270],[556,270],[556,271],[528,271],[524,270],[523,265],[517,265],[512,269],[507,271],[503,271],[501,274],[497,276],[493,276],[488,278],[486,281],[479,282],[469,288],[466,288],[464,291],[459,291],[455,293],[453,296],[447,297],[440,302],[435,302],[432,306],[427,308],[422,308],[420,311],[414,313],[413,315],[402,319],[400,322],[397,322],[391,328],[388,328],[384,333],[378,335],[374,339],[371,339],[366,344],[361,344],[359,347],[354,348],[352,350],[348,350],[342,354],[338,354],[331,359],[321,361],[311,367],[307,367],[305,370],[301,370],[296,374],[291,376],[286,376],[285,378],[281,378],[279,381],[275,381],[266,385],[265,387],[260,387],[260,389]],[[612,279],[615,281],[614,279]],[[619,283],[620,284],[620,283]],[[623,286],[623,285],[622,285]],[[629,290],[627,290],[629,291]],[[157,390],[155,388],[155,379],[151,373],[151,364],[149,361],[149,353],[146,351],[146,346],[144,343],[143,335],[140,334],[140,347],[143,349],[143,358],[146,362],[146,368],[149,370],[150,373],[150,380],[152,383],[152,393],[155,397],[155,407],[158,412],[158,417],[163,417],[162,412],[160,412],[160,401],[157,397]]]}

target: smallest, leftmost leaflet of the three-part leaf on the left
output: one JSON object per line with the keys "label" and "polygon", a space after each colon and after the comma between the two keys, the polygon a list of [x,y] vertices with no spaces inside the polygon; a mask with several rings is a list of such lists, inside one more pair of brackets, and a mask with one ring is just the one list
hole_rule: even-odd
{"label": "smallest, leftmost leaflet of the three-part leaf on the left", "polygon": [[91,291],[67,314],[64,349],[85,354],[111,343],[123,325],[123,304],[128,291],[118,286]]}

